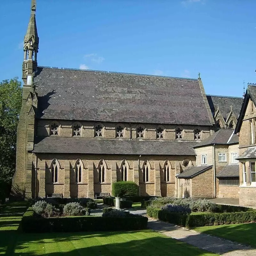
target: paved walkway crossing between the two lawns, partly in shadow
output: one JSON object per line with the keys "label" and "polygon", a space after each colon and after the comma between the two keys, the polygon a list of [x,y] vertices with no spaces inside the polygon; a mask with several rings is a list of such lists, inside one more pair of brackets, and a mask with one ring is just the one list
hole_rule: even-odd
{"label": "paved walkway crossing between the two lawns, partly in shadow", "polygon": [[237,244],[219,237],[197,233],[194,230],[175,226],[160,220],[149,219],[148,228],[222,256],[256,255],[256,249],[249,246]]}

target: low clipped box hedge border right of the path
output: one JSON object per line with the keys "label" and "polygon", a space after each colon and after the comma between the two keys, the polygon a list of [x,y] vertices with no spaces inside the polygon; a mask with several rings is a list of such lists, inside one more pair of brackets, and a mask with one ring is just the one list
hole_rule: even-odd
{"label": "low clipped box hedge border right of the path", "polygon": [[182,227],[203,227],[256,222],[256,211],[253,209],[246,212],[198,212],[197,214],[181,214],[148,206],[147,214],[149,217]]}

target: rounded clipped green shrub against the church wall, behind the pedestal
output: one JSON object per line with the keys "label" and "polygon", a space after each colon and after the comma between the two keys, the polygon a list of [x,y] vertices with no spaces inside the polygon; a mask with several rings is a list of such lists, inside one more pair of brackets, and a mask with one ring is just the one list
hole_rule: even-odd
{"label": "rounded clipped green shrub against the church wall, behind the pedestal", "polygon": [[133,181],[118,181],[112,184],[113,196],[137,196],[139,186]]}

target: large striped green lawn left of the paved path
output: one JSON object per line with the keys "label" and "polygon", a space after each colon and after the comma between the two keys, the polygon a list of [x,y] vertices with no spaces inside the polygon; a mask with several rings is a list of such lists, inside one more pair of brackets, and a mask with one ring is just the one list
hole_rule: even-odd
{"label": "large striped green lawn left of the paved path", "polygon": [[19,222],[24,204],[12,203],[0,215],[0,254],[17,256],[213,256],[155,231],[24,234]]}

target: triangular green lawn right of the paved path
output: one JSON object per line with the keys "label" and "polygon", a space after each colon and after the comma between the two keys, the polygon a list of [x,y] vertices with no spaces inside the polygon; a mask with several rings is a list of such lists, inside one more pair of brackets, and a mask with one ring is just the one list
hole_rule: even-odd
{"label": "triangular green lawn right of the paved path", "polygon": [[193,229],[201,233],[220,236],[256,248],[256,223],[205,226]]}

